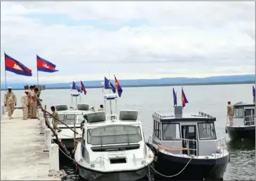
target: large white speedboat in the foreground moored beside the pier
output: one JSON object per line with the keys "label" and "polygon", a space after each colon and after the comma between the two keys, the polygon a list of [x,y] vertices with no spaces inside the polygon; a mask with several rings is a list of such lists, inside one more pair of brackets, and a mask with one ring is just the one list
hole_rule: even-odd
{"label": "large white speedboat in the foreground moored beside the pier", "polygon": [[140,180],[147,177],[154,154],[144,142],[137,110],[112,111],[117,94],[105,94],[110,114],[88,113],[83,139],[74,154],[79,175],[86,180]]}

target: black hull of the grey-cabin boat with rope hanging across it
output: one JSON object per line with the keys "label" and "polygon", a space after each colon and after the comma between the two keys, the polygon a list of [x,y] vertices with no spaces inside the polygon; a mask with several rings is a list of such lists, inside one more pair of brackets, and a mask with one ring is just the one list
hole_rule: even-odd
{"label": "black hull of the grey-cabin boat with rope hanging across it", "polygon": [[[149,147],[155,152],[155,170],[163,175],[177,175],[166,178],[155,173],[155,180],[222,179],[229,162],[229,154],[226,157],[217,159],[191,159],[189,162],[190,158],[163,154],[162,152],[158,152],[153,145],[149,145]],[[188,162],[189,164],[187,165]],[[186,165],[187,167],[184,168]],[[183,169],[184,171],[182,171]]]}

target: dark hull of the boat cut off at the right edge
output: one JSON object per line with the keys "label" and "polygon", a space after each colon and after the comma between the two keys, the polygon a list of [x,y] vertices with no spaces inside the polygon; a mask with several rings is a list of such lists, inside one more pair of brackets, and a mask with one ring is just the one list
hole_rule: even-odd
{"label": "dark hull of the boat cut off at the right edge", "polygon": [[248,139],[255,140],[255,126],[226,126],[226,131],[231,140]]}

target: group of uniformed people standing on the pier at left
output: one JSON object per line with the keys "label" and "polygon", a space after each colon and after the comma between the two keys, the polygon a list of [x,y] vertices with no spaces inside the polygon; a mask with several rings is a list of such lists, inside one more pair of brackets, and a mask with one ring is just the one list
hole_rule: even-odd
{"label": "group of uniformed people standing on the pier at left", "polygon": [[[37,105],[41,101],[41,99],[39,99],[40,91],[35,85],[25,85],[24,88],[25,92],[22,94],[20,100],[23,112],[22,118],[23,120],[27,120],[28,118],[37,119]],[[15,110],[15,106],[17,106],[17,97],[12,91],[12,87],[8,87],[8,91],[4,94],[4,106],[8,109],[9,119],[13,119],[13,112]]]}

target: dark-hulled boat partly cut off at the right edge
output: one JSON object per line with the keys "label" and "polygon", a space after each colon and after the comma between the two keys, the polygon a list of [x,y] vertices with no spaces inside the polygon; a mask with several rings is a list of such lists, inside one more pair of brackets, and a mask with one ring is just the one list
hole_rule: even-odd
{"label": "dark-hulled boat partly cut off at the right edge", "polygon": [[226,133],[231,140],[255,140],[255,103],[235,103],[231,119],[227,116]]}

